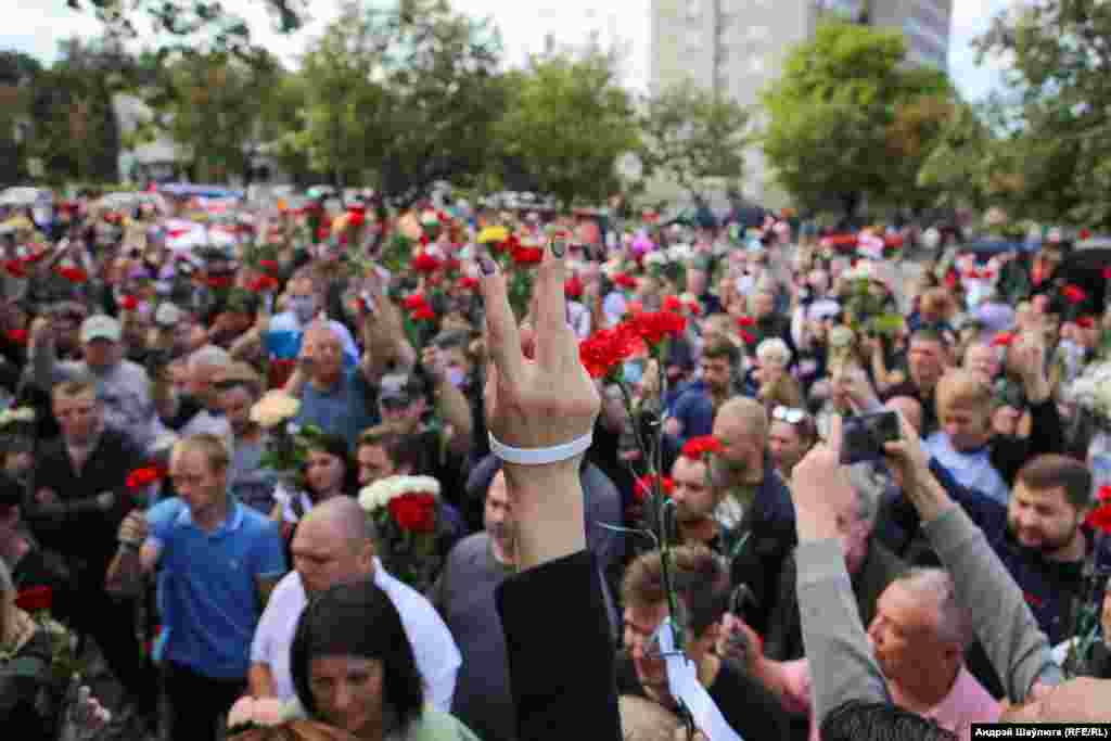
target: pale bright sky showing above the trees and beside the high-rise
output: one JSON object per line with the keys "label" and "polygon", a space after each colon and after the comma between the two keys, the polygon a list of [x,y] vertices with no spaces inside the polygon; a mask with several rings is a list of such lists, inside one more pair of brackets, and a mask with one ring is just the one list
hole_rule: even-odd
{"label": "pale bright sky showing above the trees and beside the high-rise", "polygon": [[[953,0],[952,40],[949,71],[967,97],[979,100],[1000,84],[998,62],[977,67],[971,40],[982,33],[990,19],[1018,0]],[[502,32],[510,63],[520,63],[530,52],[543,49],[551,33],[557,42],[573,44],[597,30],[604,41],[617,38],[629,50],[625,82],[644,89],[648,81],[650,0],[453,0],[454,8],[489,17]],[[9,4],[9,3],[6,3]],[[298,34],[273,33],[261,0],[226,0],[224,7],[239,10],[251,23],[252,33],[269,49],[292,61],[307,42],[320,34],[336,17],[340,0],[313,0],[316,18]],[[18,49],[49,62],[61,39],[78,34],[92,37],[98,26],[91,16],[72,11],[66,0],[16,0],[4,8],[0,49]]]}

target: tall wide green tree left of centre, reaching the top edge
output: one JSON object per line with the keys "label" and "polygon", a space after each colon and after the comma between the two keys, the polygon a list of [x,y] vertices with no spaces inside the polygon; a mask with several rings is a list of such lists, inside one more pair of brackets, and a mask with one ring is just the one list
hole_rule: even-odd
{"label": "tall wide green tree left of centre, reaching the top edge", "polygon": [[446,0],[344,7],[310,48],[304,102],[284,138],[336,184],[408,203],[439,180],[482,171],[504,104],[501,42]]}

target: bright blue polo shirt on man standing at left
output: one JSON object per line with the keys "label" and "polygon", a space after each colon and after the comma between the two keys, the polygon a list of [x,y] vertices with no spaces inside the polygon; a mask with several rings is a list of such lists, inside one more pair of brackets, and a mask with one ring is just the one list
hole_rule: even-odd
{"label": "bright blue polo shirt on man standing at left", "polygon": [[243,679],[261,604],[258,579],[287,571],[278,523],[230,497],[228,519],[211,533],[178,498],[147,515],[159,549],[162,658],[213,679]]}

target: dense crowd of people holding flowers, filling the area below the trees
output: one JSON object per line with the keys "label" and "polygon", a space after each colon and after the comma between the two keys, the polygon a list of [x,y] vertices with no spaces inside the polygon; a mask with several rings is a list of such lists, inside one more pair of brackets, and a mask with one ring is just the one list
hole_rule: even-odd
{"label": "dense crowd of people holding flowers, filling the area below the trees", "polygon": [[1111,272],[1069,242],[170,209],[3,246],[20,738],[710,737],[674,625],[745,741],[1108,720]]}

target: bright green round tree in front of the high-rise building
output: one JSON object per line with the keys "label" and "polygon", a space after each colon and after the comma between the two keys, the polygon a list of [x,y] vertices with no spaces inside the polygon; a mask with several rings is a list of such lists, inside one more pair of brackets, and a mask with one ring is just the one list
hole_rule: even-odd
{"label": "bright green round tree in front of the high-rise building", "polygon": [[908,66],[905,57],[901,33],[840,22],[820,24],[788,54],[783,73],[761,94],[769,116],[763,149],[800,206],[834,201],[851,214],[863,197],[930,198],[915,192],[917,173],[941,122],[927,126],[908,107],[944,99],[951,88],[942,72]]}

